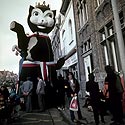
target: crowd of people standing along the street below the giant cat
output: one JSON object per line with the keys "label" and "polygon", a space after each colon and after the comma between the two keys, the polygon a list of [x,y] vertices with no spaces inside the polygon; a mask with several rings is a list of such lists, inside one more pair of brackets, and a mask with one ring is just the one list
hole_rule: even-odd
{"label": "crowd of people standing along the street below the giant cat", "polygon": [[[105,115],[107,112],[112,115],[110,125],[124,125],[123,121],[123,92],[124,86],[121,83],[120,76],[112,66],[105,66],[106,77],[104,80],[103,89],[99,88],[98,82],[95,82],[94,73],[89,73],[89,81],[86,82],[86,91],[89,95],[85,98],[83,107],[90,107],[94,114],[95,124],[101,122],[105,124]],[[43,112],[47,109],[46,102],[46,87],[47,84],[41,76],[37,78],[38,84],[36,87],[36,95],[38,100],[38,111]],[[32,90],[33,82],[30,77],[22,82],[17,93],[15,86],[11,86],[10,91],[5,85],[0,86],[0,124],[6,122],[10,124],[14,118],[20,116],[19,111],[32,112]],[[78,120],[84,119],[80,109],[79,91],[80,85],[72,72],[68,72],[67,78],[64,79],[60,74],[58,76],[57,85],[55,88],[55,107],[58,110],[65,110],[65,101],[67,98],[71,121],[76,123]],[[74,98],[73,105],[71,100]],[[71,109],[71,106],[72,109]],[[78,119],[75,117],[77,112]]]}

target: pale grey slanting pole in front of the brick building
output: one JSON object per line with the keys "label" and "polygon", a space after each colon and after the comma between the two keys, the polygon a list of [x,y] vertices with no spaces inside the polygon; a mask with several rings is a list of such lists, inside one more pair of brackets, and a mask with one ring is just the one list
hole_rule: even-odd
{"label": "pale grey slanting pole in front of the brick building", "polygon": [[117,36],[117,41],[118,41],[121,68],[122,68],[122,73],[123,73],[124,80],[125,80],[125,45],[124,45],[123,34],[121,30],[121,23],[119,19],[117,0],[111,0],[111,5],[112,5],[112,10],[113,10],[116,36]]}

